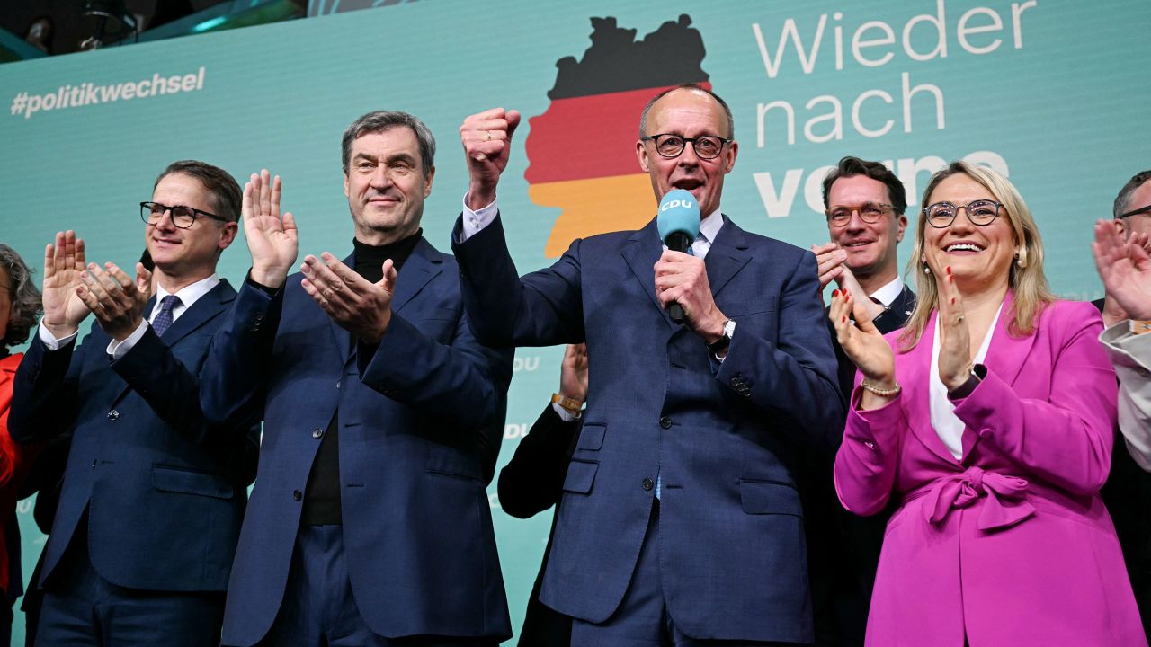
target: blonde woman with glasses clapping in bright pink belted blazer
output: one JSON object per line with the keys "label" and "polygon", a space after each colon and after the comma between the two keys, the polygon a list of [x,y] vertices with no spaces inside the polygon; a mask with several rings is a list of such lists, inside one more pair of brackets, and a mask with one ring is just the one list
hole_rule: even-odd
{"label": "blonde woman with glasses clapping in bright pink belted blazer", "polygon": [[1098,312],[1051,294],[1035,221],[999,174],[954,162],[923,204],[907,327],[882,336],[863,295],[830,309],[860,370],[839,500],[899,504],[867,644],[1145,646],[1098,495],[1116,395]]}

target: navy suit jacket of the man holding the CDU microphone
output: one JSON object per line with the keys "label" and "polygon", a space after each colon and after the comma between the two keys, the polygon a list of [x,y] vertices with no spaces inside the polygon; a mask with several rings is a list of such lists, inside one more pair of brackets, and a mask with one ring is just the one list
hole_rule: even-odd
{"label": "navy suit jacket of the man holding the CDU microphone", "polygon": [[541,600],[588,622],[624,596],[662,478],[661,577],[693,638],[811,638],[799,448],[843,429],[815,257],[724,216],[707,254],[711,292],[737,322],[721,364],[655,295],[655,221],[572,243],[519,279],[503,226],[460,241],[480,340],[587,342],[588,409],[559,505]]}

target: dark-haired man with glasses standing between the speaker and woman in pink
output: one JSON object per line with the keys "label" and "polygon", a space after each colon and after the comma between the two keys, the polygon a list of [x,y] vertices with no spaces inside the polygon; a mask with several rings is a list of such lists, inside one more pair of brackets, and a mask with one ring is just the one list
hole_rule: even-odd
{"label": "dark-haired man with glasses standing between the speaker and woman in pink", "polygon": [[[907,228],[904,183],[877,161],[846,157],[823,180],[823,206],[831,242],[811,246],[820,287],[834,281],[848,290],[871,309],[884,334],[901,327],[915,307],[915,294],[899,276],[897,254]],[[831,344],[846,398],[855,365],[833,332]],[[856,646],[863,645],[889,515],[856,517],[844,510],[832,480],[834,457],[833,450],[809,452],[802,470],[816,645]]]}

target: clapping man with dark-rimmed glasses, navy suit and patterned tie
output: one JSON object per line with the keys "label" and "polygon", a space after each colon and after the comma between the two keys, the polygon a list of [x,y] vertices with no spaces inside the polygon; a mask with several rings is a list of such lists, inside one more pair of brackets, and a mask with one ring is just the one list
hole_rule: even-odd
{"label": "clapping man with dark-rimmed glasses, navy suit and patterned tie", "polygon": [[[35,584],[39,644],[219,640],[259,431],[207,423],[197,394],[236,295],[215,267],[239,204],[227,172],[178,161],[140,203],[154,274],[86,264],[73,231],[48,245],[44,318],[8,419],[20,442],[71,435]],[[98,326],[76,348],[89,313]]]}

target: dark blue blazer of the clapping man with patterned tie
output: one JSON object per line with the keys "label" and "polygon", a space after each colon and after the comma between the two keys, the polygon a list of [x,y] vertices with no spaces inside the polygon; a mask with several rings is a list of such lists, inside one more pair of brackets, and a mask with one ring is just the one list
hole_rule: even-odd
{"label": "dark blue blazer of the clapping man with patterned tie", "polygon": [[16,372],[8,428],[20,442],[73,437],[41,585],[87,510],[92,565],[108,581],[224,591],[259,429],[208,424],[197,396],[212,334],[235,296],[221,281],[162,340],[150,326],[116,361],[99,326],[79,348],[49,351],[32,341]]}

